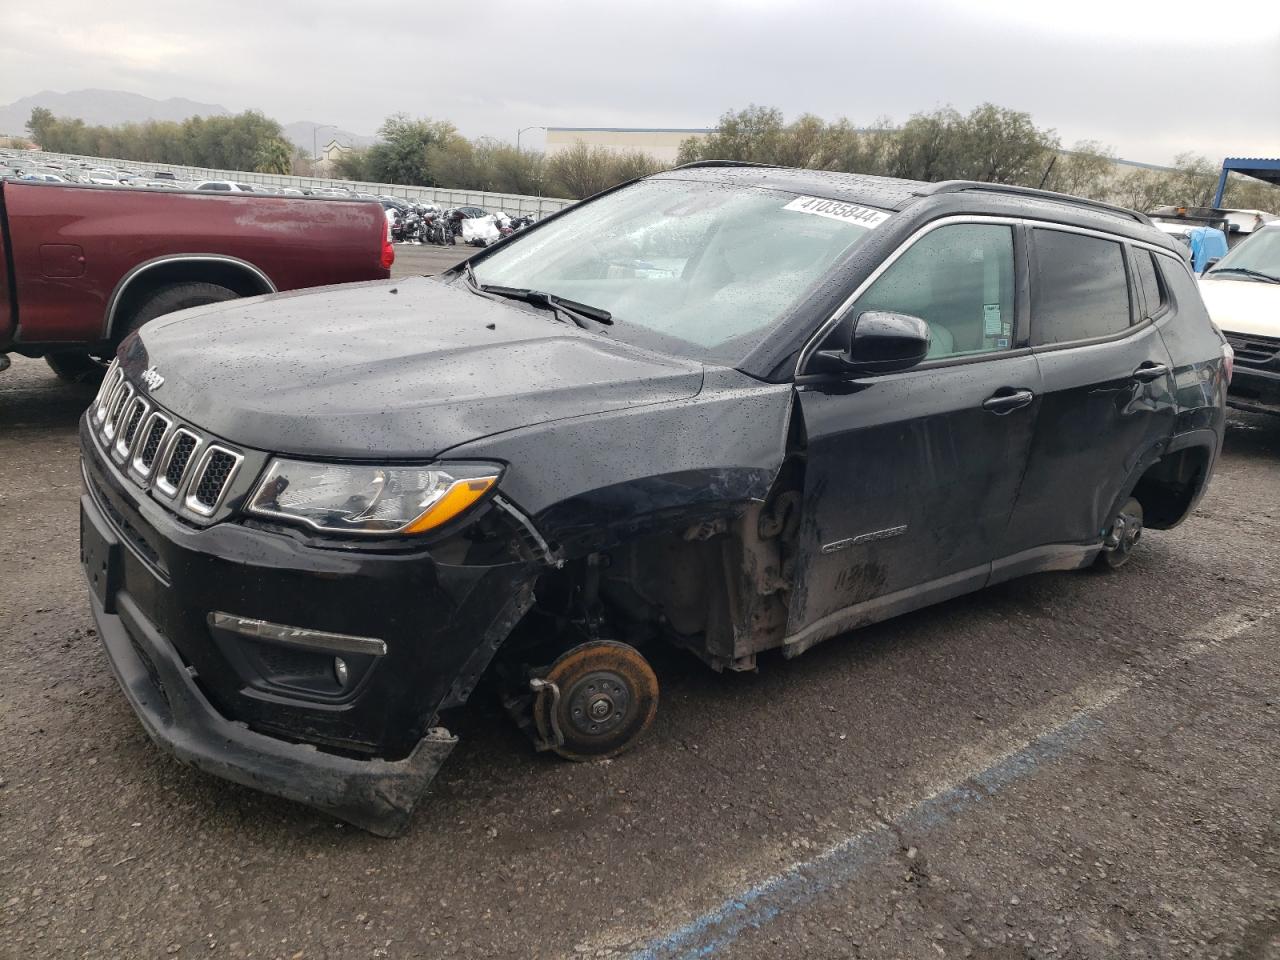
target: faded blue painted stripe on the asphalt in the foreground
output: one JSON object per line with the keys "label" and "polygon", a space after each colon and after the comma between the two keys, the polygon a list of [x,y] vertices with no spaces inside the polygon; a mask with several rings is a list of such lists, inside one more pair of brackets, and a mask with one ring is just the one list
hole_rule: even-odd
{"label": "faded blue painted stripe on the asphalt in the foreground", "polygon": [[[932,829],[973,804],[1030,774],[1080,741],[1101,724],[1088,710],[1000,759],[964,783],[925,800],[902,814],[896,824],[905,829]],[[716,956],[744,932],[764,927],[780,914],[804,906],[829,890],[849,883],[868,863],[891,855],[897,837],[877,824],[847,837],[812,860],[795,864],[746,891],[723,901],[682,927],[635,948],[630,960],[691,960]]]}

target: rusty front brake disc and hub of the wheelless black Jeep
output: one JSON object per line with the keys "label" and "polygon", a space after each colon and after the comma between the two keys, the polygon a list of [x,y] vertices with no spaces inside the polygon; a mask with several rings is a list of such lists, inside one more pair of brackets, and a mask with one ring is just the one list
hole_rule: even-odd
{"label": "rusty front brake disc and hub of the wheelless black Jeep", "polygon": [[543,677],[534,722],[568,760],[599,760],[632,746],[658,712],[658,677],[628,644],[593,640],[564,653]]}

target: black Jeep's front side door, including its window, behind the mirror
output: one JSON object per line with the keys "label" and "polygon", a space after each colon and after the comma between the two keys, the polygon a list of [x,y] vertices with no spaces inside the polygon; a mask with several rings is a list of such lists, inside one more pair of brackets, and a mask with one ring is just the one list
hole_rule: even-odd
{"label": "black Jeep's front side door, including its window, behind the mirror", "polygon": [[928,357],[900,372],[799,388],[806,466],[791,653],[986,582],[1039,404],[1023,265],[1014,223],[925,228],[846,317],[918,316],[929,324]]}

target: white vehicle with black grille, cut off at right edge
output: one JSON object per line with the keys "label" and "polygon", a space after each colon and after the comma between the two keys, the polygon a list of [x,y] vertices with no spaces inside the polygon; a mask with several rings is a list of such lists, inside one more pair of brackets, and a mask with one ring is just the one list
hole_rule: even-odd
{"label": "white vehicle with black grille, cut off at right edge", "polygon": [[1199,288],[1235,349],[1226,402],[1280,416],[1280,224],[1238,243],[1201,276]]}

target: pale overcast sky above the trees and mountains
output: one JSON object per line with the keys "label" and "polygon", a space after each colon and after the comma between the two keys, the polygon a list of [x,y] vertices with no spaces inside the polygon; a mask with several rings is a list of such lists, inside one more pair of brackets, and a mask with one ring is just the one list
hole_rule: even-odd
{"label": "pale overcast sky above the trees and mountains", "polygon": [[1280,156],[1280,0],[5,6],[0,102],[105,87],[356,133],[404,111],[515,140],[530,124],[709,127],[751,102],[870,124],[989,100],[1133,160]]}

